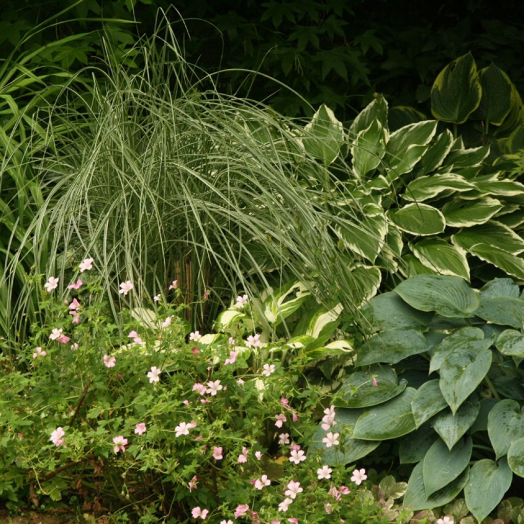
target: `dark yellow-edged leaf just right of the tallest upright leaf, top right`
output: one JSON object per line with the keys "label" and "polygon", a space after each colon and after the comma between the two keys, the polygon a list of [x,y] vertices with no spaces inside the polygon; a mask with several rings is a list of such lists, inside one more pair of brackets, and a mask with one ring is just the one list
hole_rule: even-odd
{"label": "dark yellow-edged leaf just right of the tallest upright leaf, top right", "polygon": [[511,109],[511,80],[493,63],[478,72],[478,79],[482,86],[481,103],[471,118],[499,126]]}

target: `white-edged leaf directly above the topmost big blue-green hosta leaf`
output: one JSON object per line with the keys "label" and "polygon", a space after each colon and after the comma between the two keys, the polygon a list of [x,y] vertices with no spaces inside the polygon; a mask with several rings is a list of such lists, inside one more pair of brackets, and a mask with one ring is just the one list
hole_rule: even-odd
{"label": "white-edged leaf directly above the topmost big blue-green hosta leaf", "polygon": [[417,244],[409,243],[409,247],[424,266],[441,275],[455,275],[470,281],[470,266],[464,249],[440,238],[428,238]]}

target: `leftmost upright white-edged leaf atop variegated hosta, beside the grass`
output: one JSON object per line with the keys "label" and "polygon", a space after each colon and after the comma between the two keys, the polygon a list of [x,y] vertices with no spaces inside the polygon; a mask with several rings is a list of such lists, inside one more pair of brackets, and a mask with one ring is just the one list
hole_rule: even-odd
{"label": "leftmost upright white-edged leaf atop variegated hosta, beside the grass", "polygon": [[304,149],[314,158],[329,166],[345,143],[345,132],[342,122],[338,121],[331,109],[322,104],[304,127],[307,135],[302,138]]}

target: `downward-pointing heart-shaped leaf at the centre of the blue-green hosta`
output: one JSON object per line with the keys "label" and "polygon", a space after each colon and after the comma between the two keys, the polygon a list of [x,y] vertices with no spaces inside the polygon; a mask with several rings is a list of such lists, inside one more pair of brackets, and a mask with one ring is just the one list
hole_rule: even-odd
{"label": "downward-pointing heart-shaped leaf at the centre of the blue-green hosta", "polygon": [[455,350],[440,366],[440,390],[453,414],[482,382],[489,371],[493,353]]}

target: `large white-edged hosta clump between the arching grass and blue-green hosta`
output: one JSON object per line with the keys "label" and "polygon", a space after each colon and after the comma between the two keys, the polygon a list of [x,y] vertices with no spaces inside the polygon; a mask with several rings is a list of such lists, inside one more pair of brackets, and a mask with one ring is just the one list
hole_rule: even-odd
{"label": "large white-edged hosta clump between the arching grass and blue-green hosta", "polygon": [[[380,95],[348,133],[324,106],[313,116],[309,131],[318,140],[301,146],[319,160],[318,172],[309,168],[304,178],[318,184],[333,214],[347,213],[333,227],[339,247],[363,257],[368,274],[400,269],[406,277],[487,280],[495,266],[524,280],[524,184],[487,160],[489,146],[467,149],[440,126],[426,120],[390,133]],[[322,183],[328,171],[339,175],[336,187]],[[350,219],[350,209],[362,226]],[[380,277],[375,289],[377,282]]]}

